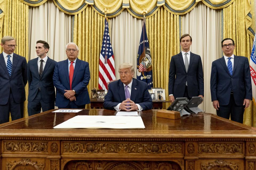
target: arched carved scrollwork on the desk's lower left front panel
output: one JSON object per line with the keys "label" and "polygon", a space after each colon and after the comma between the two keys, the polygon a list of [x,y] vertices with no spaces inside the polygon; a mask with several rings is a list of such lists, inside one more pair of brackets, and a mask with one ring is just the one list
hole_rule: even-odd
{"label": "arched carved scrollwork on the desk's lower left front panel", "polygon": [[33,162],[30,159],[21,159],[20,161],[6,162],[6,170],[43,170],[45,163]]}

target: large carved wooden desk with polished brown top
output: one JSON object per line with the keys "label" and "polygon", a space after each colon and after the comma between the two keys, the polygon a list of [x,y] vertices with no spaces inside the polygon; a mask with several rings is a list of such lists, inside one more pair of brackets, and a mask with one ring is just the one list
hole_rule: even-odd
{"label": "large carved wooden desk with polished brown top", "polygon": [[256,129],[213,114],[178,120],[139,112],[145,129],[53,129],[103,109],[39,113],[0,126],[2,170],[254,170]]}

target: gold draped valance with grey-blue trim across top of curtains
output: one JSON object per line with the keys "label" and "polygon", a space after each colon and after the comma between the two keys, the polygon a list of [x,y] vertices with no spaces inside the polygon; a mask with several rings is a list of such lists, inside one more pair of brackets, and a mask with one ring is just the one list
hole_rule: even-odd
{"label": "gold draped valance with grey-blue trim across top of curtains", "polygon": [[[48,0],[19,0],[29,6],[39,6]],[[127,8],[131,15],[142,18],[142,9],[147,10],[146,18],[154,15],[163,6],[168,12],[175,15],[186,14],[191,11],[198,2],[202,1],[206,6],[213,9],[221,9],[229,6],[234,0],[53,0],[54,4],[64,13],[75,15],[82,12],[88,5],[93,6],[93,10],[104,16],[102,12],[107,8],[107,16],[115,17],[124,8]]]}

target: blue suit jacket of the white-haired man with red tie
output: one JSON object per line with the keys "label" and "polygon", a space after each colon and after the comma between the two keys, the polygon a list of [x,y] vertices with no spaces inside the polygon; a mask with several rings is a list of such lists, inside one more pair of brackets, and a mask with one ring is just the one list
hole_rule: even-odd
{"label": "blue suit jacket of the white-haired man with red tie", "polygon": [[[68,59],[57,62],[53,73],[53,84],[56,87],[55,106],[66,107],[70,100],[64,96],[64,90],[70,90],[69,84],[69,62]],[[76,105],[90,103],[87,85],[90,80],[89,63],[79,60],[75,63],[74,75],[72,79],[72,90],[75,90]]]}

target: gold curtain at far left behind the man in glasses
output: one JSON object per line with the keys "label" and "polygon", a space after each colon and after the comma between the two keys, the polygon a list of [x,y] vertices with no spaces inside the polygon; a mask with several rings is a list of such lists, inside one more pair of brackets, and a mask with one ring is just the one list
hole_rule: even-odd
{"label": "gold curtain at far left behind the man in glasses", "polygon": [[[29,6],[19,0],[6,0],[3,10],[3,27],[1,37],[12,36],[16,39],[17,47],[14,53],[27,59],[29,58]],[[1,52],[3,49],[1,48]],[[28,85],[25,87],[26,99],[28,95]],[[24,104],[24,114],[27,114],[27,100]]]}

